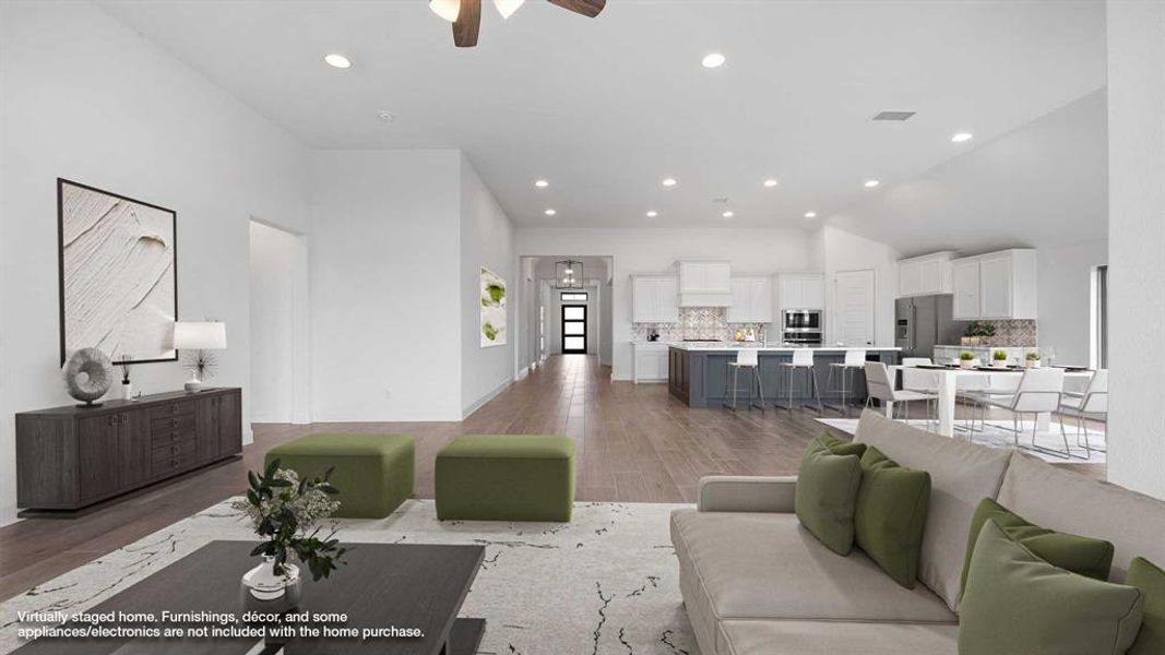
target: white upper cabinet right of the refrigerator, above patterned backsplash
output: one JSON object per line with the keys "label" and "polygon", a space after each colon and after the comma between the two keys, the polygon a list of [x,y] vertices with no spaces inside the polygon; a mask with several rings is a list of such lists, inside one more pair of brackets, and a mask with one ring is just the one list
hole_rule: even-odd
{"label": "white upper cabinet right of the refrigerator, above patterned backsplash", "polygon": [[1030,248],[952,261],[954,318],[1036,318],[1037,266]]}

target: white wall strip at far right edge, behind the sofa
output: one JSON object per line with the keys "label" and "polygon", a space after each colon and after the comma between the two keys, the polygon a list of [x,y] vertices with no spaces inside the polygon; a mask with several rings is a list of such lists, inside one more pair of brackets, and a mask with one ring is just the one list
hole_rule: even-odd
{"label": "white wall strip at far right edge, behind the sofa", "polygon": [[1165,498],[1165,3],[1108,3],[1109,480]]}

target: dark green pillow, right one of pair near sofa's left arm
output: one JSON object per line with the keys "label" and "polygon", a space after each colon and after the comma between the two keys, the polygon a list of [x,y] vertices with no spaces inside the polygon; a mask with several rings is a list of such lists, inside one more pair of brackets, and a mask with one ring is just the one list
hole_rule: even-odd
{"label": "dark green pillow, right one of pair near sofa's left arm", "polygon": [[861,465],[862,484],[854,513],[857,547],[894,582],[915,589],[931,502],[931,474],[903,469],[874,446],[866,449]]}

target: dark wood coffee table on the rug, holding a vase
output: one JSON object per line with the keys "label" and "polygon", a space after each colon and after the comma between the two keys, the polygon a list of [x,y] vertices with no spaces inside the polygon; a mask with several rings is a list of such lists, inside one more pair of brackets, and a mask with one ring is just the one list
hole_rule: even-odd
{"label": "dark wood coffee table on the rug, holding a vase", "polygon": [[[458,613],[469,592],[485,548],[480,545],[345,544],[346,564],[331,578],[304,580],[299,611],[348,615],[347,627],[418,628],[414,639],[292,639],[264,653],[287,655],[472,655],[486,629],[483,619]],[[255,565],[253,542],[216,541],[97,605],[91,612],[228,612],[242,614],[239,579]],[[306,568],[303,568],[306,575]],[[47,640],[16,650],[21,655],[245,655],[253,638],[189,640]]]}

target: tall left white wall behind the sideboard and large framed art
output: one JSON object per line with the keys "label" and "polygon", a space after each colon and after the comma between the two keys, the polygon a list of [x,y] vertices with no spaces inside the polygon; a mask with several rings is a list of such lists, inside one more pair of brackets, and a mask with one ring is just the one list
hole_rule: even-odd
{"label": "tall left white wall behind the sideboard and large framed art", "polygon": [[[56,178],[177,211],[179,317],[226,322],[213,383],[248,387],[248,221],[308,231],[309,152],[87,3],[0,5],[0,77],[3,523],[15,506],[13,413],[71,402],[58,379]],[[132,373],[146,393],[185,378],[172,362]],[[246,427],[248,389],[242,397]]]}

